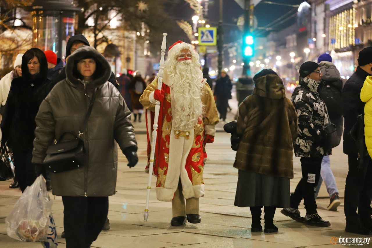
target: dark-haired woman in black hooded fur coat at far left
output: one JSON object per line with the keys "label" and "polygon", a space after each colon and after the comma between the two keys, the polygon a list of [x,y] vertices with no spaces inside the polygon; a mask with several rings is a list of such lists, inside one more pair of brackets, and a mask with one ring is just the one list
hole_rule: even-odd
{"label": "dark-haired woman in black hooded fur coat at far left", "polygon": [[1,144],[13,149],[17,179],[22,192],[36,179],[35,164],[31,162],[35,138],[35,116],[50,91],[48,62],[43,51],[31,48],[22,56],[22,77],[14,78],[10,86],[5,113],[1,120]]}

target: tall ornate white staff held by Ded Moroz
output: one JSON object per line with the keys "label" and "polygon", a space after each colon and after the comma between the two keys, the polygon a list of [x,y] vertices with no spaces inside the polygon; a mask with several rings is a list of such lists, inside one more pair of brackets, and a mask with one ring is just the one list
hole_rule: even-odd
{"label": "tall ornate white staff held by Ded Moroz", "polygon": [[[167,47],[167,38],[166,33],[163,33],[163,42],[161,43],[161,59],[159,65],[159,72],[158,76],[158,90],[161,90],[161,86],[163,85],[163,69],[164,69],[164,55],[165,49]],[[151,190],[151,176],[153,175],[153,166],[154,166],[154,158],[155,158],[155,146],[156,146],[156,138],[157,138],[157,129],[158,129],[158,119],[159,119],[159,110],[160,110],[160,102],[157,100],[155,103],[155,116],[154,116],[154,125],[153,125],[153,132],[151,137],[151,153],[150,153],[150,165],[148,171],[148,181],[147,181],[147,197],[146,197],[146,208],[145,212],[143,213],[143,219],[147,221],[148,218],[148,203],[150,202],[150,190]]]}

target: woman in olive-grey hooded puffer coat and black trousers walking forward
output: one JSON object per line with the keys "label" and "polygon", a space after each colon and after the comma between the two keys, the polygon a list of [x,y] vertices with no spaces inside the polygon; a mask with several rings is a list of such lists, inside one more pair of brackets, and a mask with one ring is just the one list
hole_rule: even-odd
{"label": "woman in olive-grey hooded puffer coat and black trousers walking forward", "polygon": [[[115,194],[116,142],[128,159],[128,166],[134,167],[138,162],[137,141],[129,120],[131,112],[119,91],[108,82],[110,65],[96,49],[77,49],[68,59],[65,71],[66,79],[55,85],[36,116],[32,161],[42,166],[54,139],[60,139],[65,132],[79,131],[94,94],[92,114],[80,136],[87,149],[87,164],[51,173],[52,193],[62,196],[67,247],[90,247],[107,220],[108,196]],[[64,136],[64,140],[73,138]]]}

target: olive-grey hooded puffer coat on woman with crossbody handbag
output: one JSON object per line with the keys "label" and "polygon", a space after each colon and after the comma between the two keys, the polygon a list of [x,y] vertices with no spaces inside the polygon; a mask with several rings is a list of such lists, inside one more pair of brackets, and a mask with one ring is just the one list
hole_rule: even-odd
{"label": "olive-grey hooded puffer coat on woman with crossbody handbag", "polygon": [[[87,55],[96,59],[99,77],[84,86],[73,74],[73,67]],[[67,78],[52,89],[36,116],[32,162],[42,164],[47,147],[62,133],[78,132],[96,88],[92,113],[81,136],[87,149],[87,165],[51,173],[51,181],[53,194],[57,196],[110,196],[115,194],[118,170],[116,142],[122,151],[129,147],[137,150],[133,125],[128,119],[131,112],[119,91],[107,82],[110,65],[94,48],[77,49],[67,62],[66,72]],[[64,137],[65,140],[72,138],[70,135]]]}

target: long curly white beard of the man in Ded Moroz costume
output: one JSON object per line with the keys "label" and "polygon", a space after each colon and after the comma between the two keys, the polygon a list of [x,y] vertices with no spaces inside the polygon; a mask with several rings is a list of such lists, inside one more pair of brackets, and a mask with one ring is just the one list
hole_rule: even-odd
{"label": "long curly white beard of the man in Ded Moroz costume", "polygon": [[174,130],[190,131],[203,114],[203,73],[192,60],[177,61],[168,66],[171,68],[166,69],[173,80],[170,86],[172,126]]}

